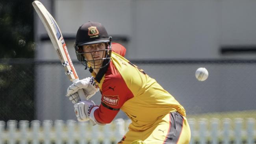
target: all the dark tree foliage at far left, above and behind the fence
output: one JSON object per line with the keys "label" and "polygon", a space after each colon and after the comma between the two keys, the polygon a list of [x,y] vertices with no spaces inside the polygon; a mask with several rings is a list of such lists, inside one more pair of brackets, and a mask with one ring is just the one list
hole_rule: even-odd
{"label": "all the dark tree foliage at far left, above and behind the fence", "polygon": [[[34,57],[32,0],[0,0],[0,33],[0,60]],[[33,93],[33,63],[0,62],[0,120],[33,120]]]}

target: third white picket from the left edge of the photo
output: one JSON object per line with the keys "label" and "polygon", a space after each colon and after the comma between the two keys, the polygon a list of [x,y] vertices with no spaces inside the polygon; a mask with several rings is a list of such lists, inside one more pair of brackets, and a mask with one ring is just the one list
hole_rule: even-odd
{"label": "third white picket from the left edge of the photo", "polygon": [[28,144],[27,135],[28,135],[28,120],[20,120],[19,127],[20,127],[20,144]]}

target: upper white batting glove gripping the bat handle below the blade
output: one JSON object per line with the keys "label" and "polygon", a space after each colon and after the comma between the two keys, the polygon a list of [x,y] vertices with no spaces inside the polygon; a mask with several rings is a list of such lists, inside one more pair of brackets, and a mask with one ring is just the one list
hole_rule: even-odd
{"label": "upper white batting glove gripping the bat handle below the blade", "polygon": [[78,103],[80,101],[77,91],[83,89],[86,99],[91,98],[96,92],[98,92],[98,85],[94,81],[94,78],[85,78],[79,81],[76,81],[67,88],[66,96],[69,97],[69,100],[72,103]]}

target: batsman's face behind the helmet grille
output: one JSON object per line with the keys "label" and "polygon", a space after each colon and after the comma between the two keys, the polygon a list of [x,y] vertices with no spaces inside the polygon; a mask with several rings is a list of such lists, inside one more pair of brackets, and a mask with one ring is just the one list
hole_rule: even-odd
{"label": "batsman's face behind the helmet grille", "polygon": [[95,68],[98,68],[102,65],[102,58],[104,58],[106,55],[106,44],[98,43],[84,45],[83,52],[85,52],[84,56],[88,63],[91,66],[95,66]]}

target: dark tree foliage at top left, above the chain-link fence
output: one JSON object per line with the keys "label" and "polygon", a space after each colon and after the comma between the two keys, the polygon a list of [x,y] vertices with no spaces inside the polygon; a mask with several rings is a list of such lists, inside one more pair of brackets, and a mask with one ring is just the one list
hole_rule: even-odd
{"label": "dark tree foliage at top left, above the chain-link fence", "polygon": [[32,0],[0,2],[0,58],[33,58]]}

